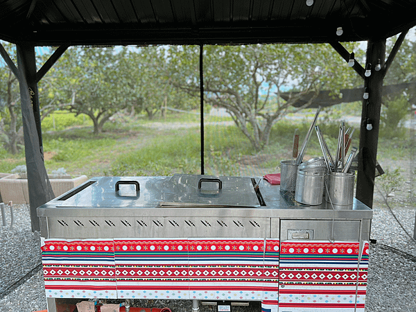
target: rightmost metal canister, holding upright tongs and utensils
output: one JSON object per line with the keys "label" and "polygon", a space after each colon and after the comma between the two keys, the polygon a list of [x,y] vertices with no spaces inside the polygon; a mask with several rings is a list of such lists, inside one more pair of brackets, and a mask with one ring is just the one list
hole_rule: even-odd
{"label": "rightmost metal canister, holding upright tongs and utensils", "polygon": [[[349,173],[331,172],[327,180],[325,200],[333,209],[352,209],[354,200],[354,171]],[[332,208],[330,206],[329,208]]]}

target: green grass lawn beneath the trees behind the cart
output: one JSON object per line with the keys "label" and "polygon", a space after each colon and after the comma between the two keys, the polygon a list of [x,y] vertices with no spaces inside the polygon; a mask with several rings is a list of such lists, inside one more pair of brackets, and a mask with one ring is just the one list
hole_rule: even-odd
{"label": "green grass lawn beneath the trees behind the cart", "polygon": [[[272,128],[270,144],[255,153],[247,138],[235,125],[212,125],[229,118],[205,118],[205,173],[241,175],[245,169],[259,174],[279,172],[279,162],[291,158],[293,134],[300,134],[300,144],[309,129],[306,121],[279,121]],[[168,114],[148,121],[143,118],[107,122],[104,132],[93,135],[92,124],[82,116],[55,113],[42,121],[45,166],[48,172],[58,168],[69,174],[101,175],[171,175],[200,173],[200,129],[197,114]],[[181,128],[179,125],[192,125]],[[320,125],[331,150],[336,149],[338,124]],[[358,146],[358,131],[353,145]],[[315,131],[305,158],[322,155]],[[379,139],[379,159],[406,159],[405,139]],[[10,155],[0,151],[0,172],[8,173],[25,164],[24,151]]]}

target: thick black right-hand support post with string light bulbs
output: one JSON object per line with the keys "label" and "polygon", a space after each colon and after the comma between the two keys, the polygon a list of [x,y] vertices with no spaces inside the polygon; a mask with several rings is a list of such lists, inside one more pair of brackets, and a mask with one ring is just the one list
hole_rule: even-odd
{"label": "thick black right-hand support post with string light bulbs", "polygon": [[361,112],[356,198],[372,208],[377,146],[379,143],[381,93],[385,75],[384,70],[375,71],[374,68],[379,60],[383,68],[385,40],[370,40],[367,45],[366,59],[365,69],[367,69],[368,64],[371,64],[371,76],[365,77],[364,83],[369,98],[363,100],[363,110]]}

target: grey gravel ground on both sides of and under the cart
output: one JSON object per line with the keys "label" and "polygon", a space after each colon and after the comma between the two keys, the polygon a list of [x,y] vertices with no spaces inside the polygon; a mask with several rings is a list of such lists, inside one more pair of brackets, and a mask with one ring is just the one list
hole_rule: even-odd
{"label": "grey gravel ground on both sides of and under the cart", "polygon": [[[393,211],[408,233],[415,226],[415,204],[397,205]],[[367,286],[366,312],[416,311],[416,243],[411,241],[399,226],[387,206],[375,205],[372,222],[370,270]],[[15,205],[15,225],[12,229],[0,227],[0,311],[32,312],[46,309],[43,275],[40,268],[40,237],[31,232],[29,209],[26,205]],[[7,219],[10,223],[10,216]],[[394,252],[390,246],[399,250]],[[406,253],[406,254],[405,254]],[[413,258],[412,258],[413,256]],[[35,270],[34,270],[35,269]],[[16,284],[21,277],[31,276],[23,284]],[[32,273],[31,273],[32,272]],[[13,285],[14,284],[14,285]],[[13,285],[11,292],[8,291]],[[6,295],[4,295],[6,292]],[[191,311],[190,301],[148,300],[136,303],[141,306],[168,306],[173,312]],[[215,311],[201,306],[201,312]],[[260,311],[257,303],[239,311]]]}

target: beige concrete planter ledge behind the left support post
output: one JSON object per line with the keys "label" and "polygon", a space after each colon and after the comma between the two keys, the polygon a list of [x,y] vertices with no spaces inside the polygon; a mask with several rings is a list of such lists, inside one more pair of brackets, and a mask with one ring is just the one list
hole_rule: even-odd
{"label": "beige concrete planter ledge behind the left support post", "polygon": [[[87,175],[76,175],[73,178],[65,176],[62,179],[49,177],[55,197],[62,195],[74,187],[78,187],[78,185],[87,180]],[[0,173],[0,194],[3,202],[12,200],[13,204],[28,204],[28,180],[19,178],[18,174]]]}

